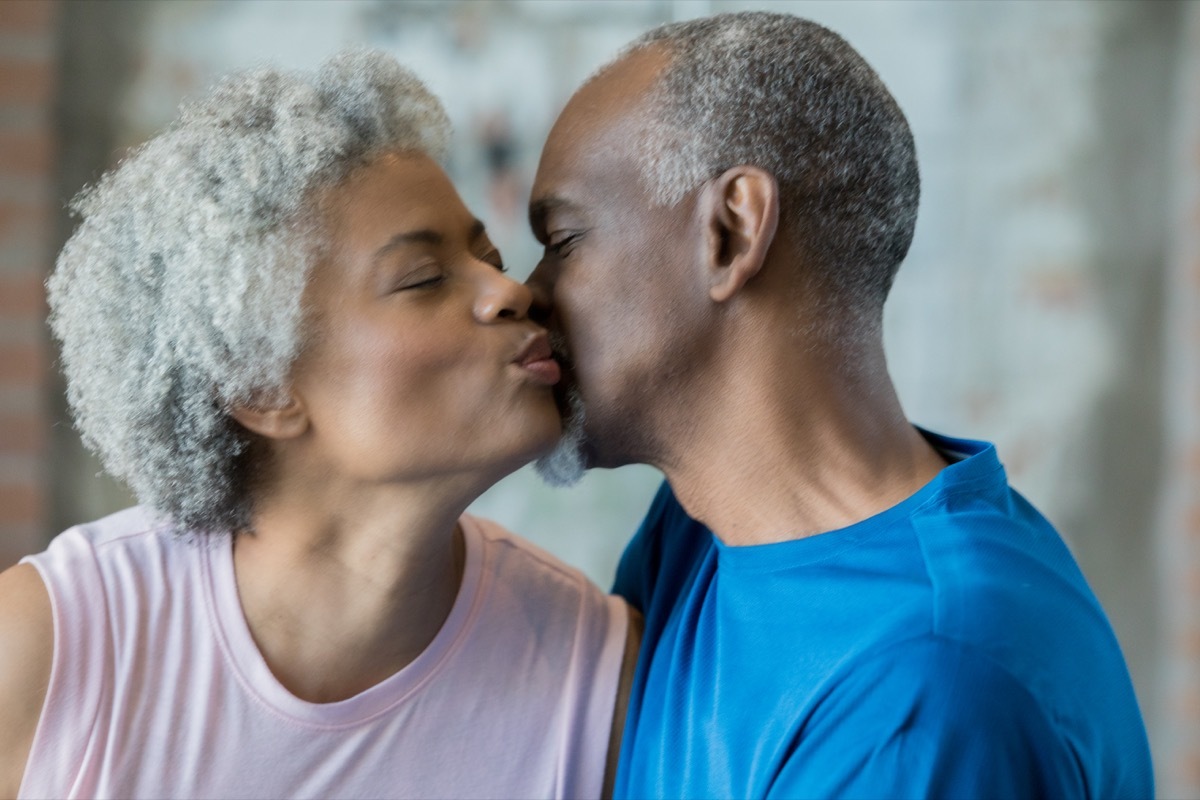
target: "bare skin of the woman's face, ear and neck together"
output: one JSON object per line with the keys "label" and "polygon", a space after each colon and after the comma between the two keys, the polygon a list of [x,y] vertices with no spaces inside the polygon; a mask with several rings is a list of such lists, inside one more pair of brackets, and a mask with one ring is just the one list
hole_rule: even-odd
{"label": "bare skin of the woman's face, ear and neck together", "polygon": [[234,569],[281,682],[332,702],[428,645],[461,579],[458,516],[559,421],[514,362],[542,335],[529,293],[433,161],[385,156],[320,201],[331,257],[290,396],[234,414],[271,465]]}

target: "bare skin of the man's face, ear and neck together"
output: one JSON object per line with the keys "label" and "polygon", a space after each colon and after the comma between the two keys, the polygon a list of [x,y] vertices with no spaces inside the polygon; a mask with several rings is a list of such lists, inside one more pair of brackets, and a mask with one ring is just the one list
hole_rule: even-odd
{"label": "bare skin of the man's face, ear and neck together", "polygon": [[812,333],[839,309],[780,222],[773,175],[734,166],[650,201],[630,149],[668,59],[634,53],[576,92],[533,186],[534,313],[569,342],[584,455],[660,468],[730,545],[865,519],[944,462],[907,422],[878,333]]}

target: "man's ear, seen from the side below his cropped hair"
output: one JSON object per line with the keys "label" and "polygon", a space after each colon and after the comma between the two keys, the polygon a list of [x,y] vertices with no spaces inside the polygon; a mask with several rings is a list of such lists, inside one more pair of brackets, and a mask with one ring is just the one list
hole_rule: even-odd
{"label": "man's ear, seen from the side below his cropped hair", "polygon": [[757,167],[731,167],[702,194],[708,294],[725,302],[758,273],[779,227],[779,182]]}

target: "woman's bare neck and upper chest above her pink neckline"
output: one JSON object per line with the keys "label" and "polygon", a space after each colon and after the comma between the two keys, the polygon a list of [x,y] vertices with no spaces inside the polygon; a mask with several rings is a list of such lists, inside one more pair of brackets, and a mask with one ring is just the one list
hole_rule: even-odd
{"label": "woman's bare neck and upper chest above her pink neckline", "polygon": [[234,542],[239,597],[294,694],[353,697],[437,636],[462,583],[457,519],[469,501],[438,488],[313,487],[256,507],[253,531]]}

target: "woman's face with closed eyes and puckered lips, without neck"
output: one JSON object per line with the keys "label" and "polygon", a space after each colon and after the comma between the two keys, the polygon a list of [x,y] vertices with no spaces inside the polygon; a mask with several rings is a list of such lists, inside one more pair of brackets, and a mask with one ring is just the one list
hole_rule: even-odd
{"label": "woman's face with closed eyes and puckered lips, without neck", "polygon": [[539,335],[530,297],[442,169],[385,156],[323,201],[335,259],[305,293],[287,410],[328,467],[407,483],[528,461],[558,427],[551,392],[511,363]]}

